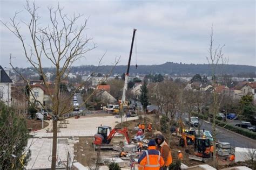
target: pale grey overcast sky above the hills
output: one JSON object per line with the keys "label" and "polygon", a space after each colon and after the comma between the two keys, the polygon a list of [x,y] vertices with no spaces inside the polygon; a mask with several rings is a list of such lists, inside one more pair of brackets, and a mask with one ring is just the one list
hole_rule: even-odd
{"label": "pale grey overcast sky above the hills", "polygon": [[[15,11],[22,11],[25,1],[0,0],[1,20],[7,22]],[[47,26],[47,6],[58,1],[36,1],[40,6],[41,25]],[[97,48],[86,54],[79,65],[111,65],[121,56],[120,65],[127,65],[132,31],[136,28],[136,45],[131,64],[158,65],[169,62],[207,63],[211,26],[214,43],[224,47],[230,64],[256,66],[255,1],[59,1],[68,15],[83,14],[87,22],[86,35]],[[26,11],[18,15],[28,20]],[[25,26],[21,31],[26,34]],[[9,66],[9,54],[17,67],[30,67],[24,57],[21,42],[2,24],[0,26],[0,65]],[[137,49],[137,50],[136,50]],[[137,53],[136,53],[137,51]],[[45,61],[48,66],[49,62]]]}

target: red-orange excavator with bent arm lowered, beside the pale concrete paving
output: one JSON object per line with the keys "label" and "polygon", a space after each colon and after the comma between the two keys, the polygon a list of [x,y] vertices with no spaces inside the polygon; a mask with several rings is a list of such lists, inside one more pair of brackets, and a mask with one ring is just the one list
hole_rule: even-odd
{"label": "red-orange excavator with bent arm lowered, beside the pale concrete paving", "polygon": [[127,143],[130,144],[130,138],[128,136],[128,129],[127,128],[114,128],[111,130],[110,126],[99,126],[98,133],[95,134],[93,145],[98,148],[112,148],[113,145],[110,144],[111,139],[114,137],[114,134],[121,133],[124,134]]}

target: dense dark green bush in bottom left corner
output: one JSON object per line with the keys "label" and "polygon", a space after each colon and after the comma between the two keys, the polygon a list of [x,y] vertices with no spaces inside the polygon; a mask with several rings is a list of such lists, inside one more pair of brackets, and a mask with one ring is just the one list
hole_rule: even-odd
{"label": "dense dark green bush in bottom left corner", "polygon": [[22,169],[30,157],[24,154],[29,138],[26,120],[0,102],[0,169]]}

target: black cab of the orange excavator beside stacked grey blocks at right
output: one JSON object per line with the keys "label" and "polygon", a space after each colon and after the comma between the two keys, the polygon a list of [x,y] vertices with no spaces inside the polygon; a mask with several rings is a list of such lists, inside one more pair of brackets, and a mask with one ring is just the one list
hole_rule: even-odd
{"label": "black cab of the orange excavator beside stacked grey blocks at right", "polygon": [[194,154],[202,158],[210,158],[210,139],[208,138],[196,138],[194,142]]}

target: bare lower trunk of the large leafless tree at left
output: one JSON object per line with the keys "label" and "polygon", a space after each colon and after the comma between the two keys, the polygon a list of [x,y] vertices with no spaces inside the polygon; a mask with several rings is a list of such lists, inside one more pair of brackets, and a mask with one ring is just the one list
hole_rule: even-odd
{"label": "bare lower trunk of the large leafless tree at left", "polygon": [[52,118],[52,160],[51,160],[51,169],[56,169],[56,153],[57,153],[57,133],[58,133],[58,122],[55,118]]}

